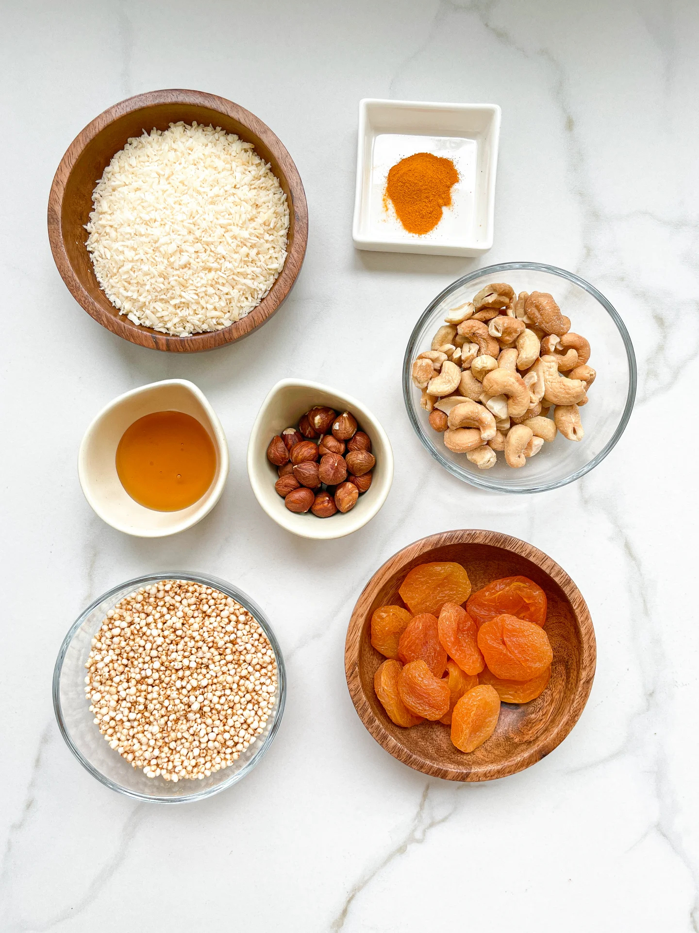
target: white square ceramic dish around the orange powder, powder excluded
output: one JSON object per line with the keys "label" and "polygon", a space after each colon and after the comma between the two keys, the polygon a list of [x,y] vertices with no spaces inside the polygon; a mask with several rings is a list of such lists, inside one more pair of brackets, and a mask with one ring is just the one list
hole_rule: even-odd
{"label": "white square ceramic dish around the orange powder, powder excluded", "polygon": [[[481,256],[493,244],[500,107],[364,98],[359,104],[352,241],[357,249]],[[429,233],[404,230],[385,202],[391,166],[416,152],[451,159],[452,206]]]}

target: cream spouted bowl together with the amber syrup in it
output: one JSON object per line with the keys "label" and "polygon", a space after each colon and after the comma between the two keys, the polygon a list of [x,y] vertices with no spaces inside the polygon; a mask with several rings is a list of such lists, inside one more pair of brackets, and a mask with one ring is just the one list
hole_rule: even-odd
{"label": "cream spouted bowl together with the amber syrup in it", "polygon": [[168,379],[111,401],[80,444],[77,473],[91,508],[127,535],[191,528],[218,502],[226,435],[194,383]]}

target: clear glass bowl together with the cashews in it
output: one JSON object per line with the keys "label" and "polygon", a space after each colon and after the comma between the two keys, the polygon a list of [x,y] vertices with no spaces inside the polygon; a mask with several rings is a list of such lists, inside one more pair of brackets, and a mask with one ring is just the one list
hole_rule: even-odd
{"label": "clear glass bowl together with the cashews in it", "polygon": [[418,438],[459,480],[541,493],[578,480],[624,433],[636,356],[593,285],[507,262],[464,275],[420,316],[403,393]]}

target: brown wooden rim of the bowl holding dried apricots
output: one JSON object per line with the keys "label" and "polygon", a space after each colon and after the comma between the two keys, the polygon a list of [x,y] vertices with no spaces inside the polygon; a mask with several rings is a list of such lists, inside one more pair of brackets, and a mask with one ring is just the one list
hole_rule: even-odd
{"label": "brown wooden rim of the bowl holding dried apricots", "polygon": [[[361,603],[371,604],[374,592],[377,591],[381,583],[390,574],[398,570],[407,563],[405,558],[410,560],[417,557],[420,553],[433,550],[439,547],[447,547],[450,544],[483,544],[494,548],[509,550],[514,554],[526,558],[533,563],[538,564],[541,570],[560,587],[569,600],[570,609],[580,628],[581,633],[581,657],[580,657],[580,678],[575,693],[573,694],[565,717],[561,719],[557,727],[545,736],[541,737],[534,745],[529,746],[513,758],[500,764],[482,764],[477,766],[464,763],[462,768],[443,768],[440,765],[432,763],[429,759],[422,758],[411,752],[397,742],[391,733],[387,731],[383,723],[376,717],[374,711],[364,696],[362,684],[359,675],[359,648],[362,637],[363,623],[366,619],[366,612],[360,609]],[[578,606],[578,608],[576,608]],[[495,778],[506,777],[524,771],[530,765],[548,755],[553,751],[556,745],[561,742],[572,730],[578,719],[583,713],[585,703],[590,696],[592,682],[595,677],[596,667],[596,638],[595,629],[592,624],[587,604],[583,599],[583,594],[569,577],[566,571],[556,564],[548,554],[535,548],[534,545],[522,541],[518,537],[504,535],[501,532],[486,531],[484,529],[462,529],[449,532],[441,532],[436,535],[419,538],[393,554],[384,564],[378,568],[374,576],[363,588],[357,603],[352,610],[345,641],[345,675],[347,676],[347,685],[349,695],[354,703],[357,715],[362,720],[366,729],[370,732],[377,743],[386,749],[393,758],[402,761],[409,767],[414,768],[433,777],[442,777],[447,781],[491,781]]]}

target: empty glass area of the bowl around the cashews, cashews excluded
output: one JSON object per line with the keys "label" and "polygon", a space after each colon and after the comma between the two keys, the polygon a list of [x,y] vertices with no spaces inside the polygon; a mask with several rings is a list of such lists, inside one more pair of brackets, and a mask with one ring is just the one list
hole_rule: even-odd
{"label": "empty glass area of the bowl around the cashews, cashews excluded", "polygon": [[[526,466],[507,466],[502,454],[488,470],[479,470],[465,453],[452,453],[442,436],[432,430],[429,414],[419,406],[420,390],[410,378],[416,356],[430,349],[432,337],[444,323],[445,313],[471,301],[491,282],[508,282],[515,292],[550,292],[570,329],[590,341],[590,365],[596,380],[589,401],[581,409],[583,440],[571,442],[560,434],[545,443]],[[420,316],[405,350],[403,396],[408,417],[418,438],[434,459],[459,480],[500,493],[542,493],[578,480],[610,453],[621,438],[636,397],[636,356],[628,331],[610,302],[593,285],[572,272],[538,262],[503,262],[470,272],[445,288]]]}

